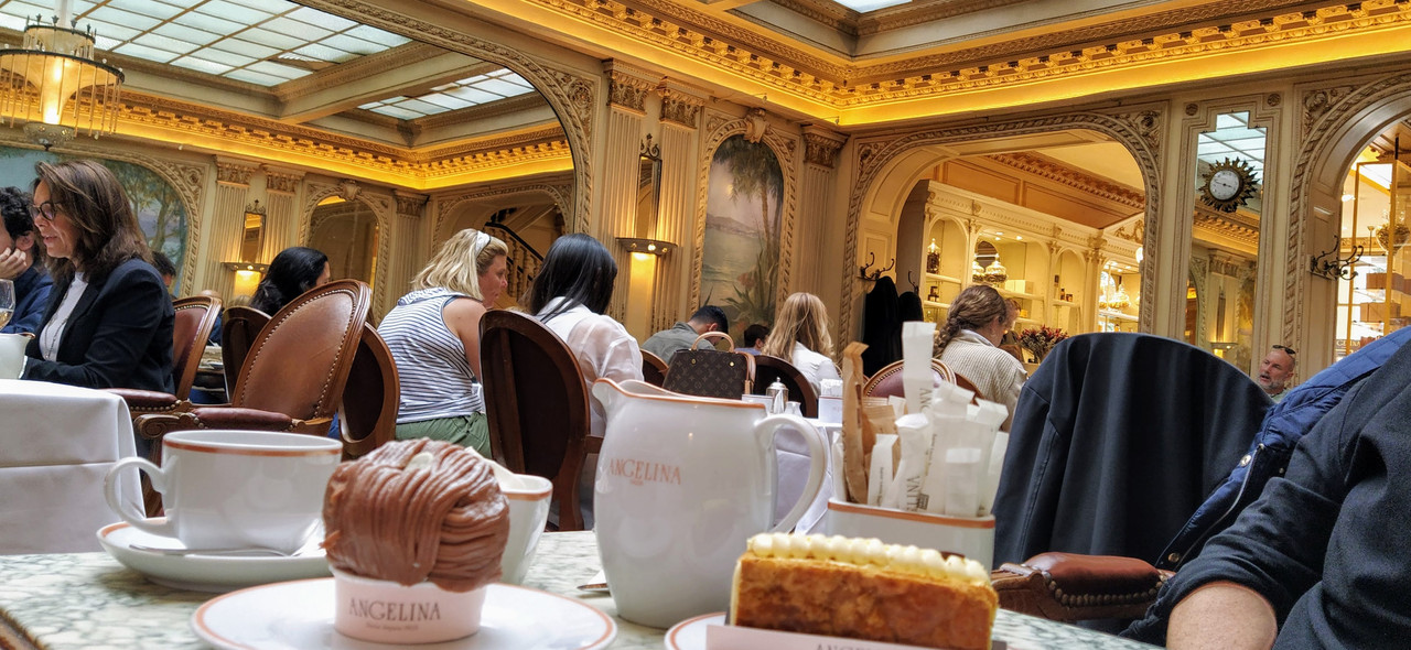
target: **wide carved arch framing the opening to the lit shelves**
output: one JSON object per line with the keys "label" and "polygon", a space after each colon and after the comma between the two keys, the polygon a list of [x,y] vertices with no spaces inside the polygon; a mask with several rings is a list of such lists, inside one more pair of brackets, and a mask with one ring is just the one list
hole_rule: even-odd
{"label": "wide carved arch framing the opening to the lit shelves", "polygon": [[[848,199],[847,234],[844,240],[842,305],[835,321],[835,338],[851,340],[854,310],[862,295],[862,281],[858,279],[858,234],[864,209],[886,213],[895,219],[900,203],[906,200],[910,183],[920,172],[937,161],[947,158],[948,147],[998,140],[1016,135],[1034,135],[1057,131],[1088,130],[1122,144],[1141,169],[1147,196],[1144,241],[1149,250],[1161,250],[1157,219],[1161,209],[1160,148],[1161,131],[1167,120],[1164,104],[1123,107],[1116,111],[1075,111],[1060,116],[1027,117],[985,124],[937,127],[907,134],[858,138],[854,149],[854,165],[858,169],[854,190]],[[895,203],[895,204],[890,204]],[[1141,295],[1156,295],[1156,255],[1146,255],[1141,262]],[[1156,314],[1150,300],[1141,302],[1140,327],[1151,331]]]}

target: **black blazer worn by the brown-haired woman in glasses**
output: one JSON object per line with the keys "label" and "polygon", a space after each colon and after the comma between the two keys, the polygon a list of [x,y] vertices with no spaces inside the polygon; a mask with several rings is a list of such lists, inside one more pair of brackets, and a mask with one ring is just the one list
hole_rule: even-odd
{"label": "black blazer worn by the brown-haired woman in glasses", "polygon": [[[69,286],[54,286],[44,327]],[[172,392],[172,329],[176,313],[151,264],[128,259],[102,283],[89,283],[59,340],[58,361],[44,361],[40,337],[30,341],[24,378],[85,388]]]}

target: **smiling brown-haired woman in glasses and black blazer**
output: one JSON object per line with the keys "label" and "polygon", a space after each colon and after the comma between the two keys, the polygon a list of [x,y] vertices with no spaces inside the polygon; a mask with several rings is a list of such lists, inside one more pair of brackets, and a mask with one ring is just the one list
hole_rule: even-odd
{"label": "smiling brown-haired woman in glasses and black blazer", "polygon": [[54,296],[23,376],[172,392],[176,316],[117,176],[93,161],[34,171],[31,209]]}

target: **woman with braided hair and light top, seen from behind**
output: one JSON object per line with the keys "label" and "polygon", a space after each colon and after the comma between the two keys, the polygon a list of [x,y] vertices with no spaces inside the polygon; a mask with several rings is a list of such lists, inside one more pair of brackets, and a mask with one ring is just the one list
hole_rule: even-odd
{"label": "woman with braided hair and light top, seen from behind", "polygon": [[964,375],[981,398],[1009,409],[1000,430],[1009,430],[1024,385],[1024,365],[999,348],[1015,326],[1015,313],[993,286],[967,286],[951,300],[950,316],[935,333],[933,355],[957,375]]}

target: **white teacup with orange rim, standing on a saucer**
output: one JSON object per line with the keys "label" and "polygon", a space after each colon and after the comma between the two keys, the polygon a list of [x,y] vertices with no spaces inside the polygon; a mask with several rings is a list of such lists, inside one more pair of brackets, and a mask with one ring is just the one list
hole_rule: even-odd
{"label": "white teacup with orange rim, standing on a saucer", "polygon": [[[322,436],[193,430],[162,440],[162,467],[123,458],[107,472],[107,505],[138,530],[176,537],[188,548],[270,547],[293,553],[319,526],[323,491],[343,444]],[[166,520],[150,520],[117,495],[117,474],[145,471],[162,493]]]}

